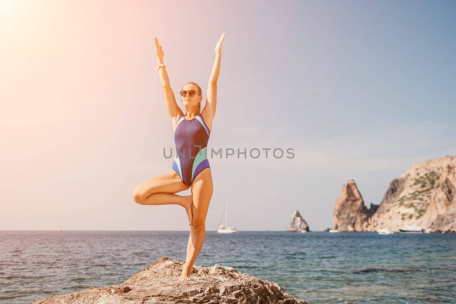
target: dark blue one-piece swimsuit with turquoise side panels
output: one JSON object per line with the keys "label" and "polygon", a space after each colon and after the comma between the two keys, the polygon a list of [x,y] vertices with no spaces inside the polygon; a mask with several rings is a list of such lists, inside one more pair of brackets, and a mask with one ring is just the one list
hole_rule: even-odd
{"label": "dark blue one-piece swimsuit with turquoise side panels", "polygon": [[172,163],[172,169],[187,186],[192,185],[195,177],[203,169],[210,168],[207,160],[209,134],[209,128],[202,119],[201,113],[190,120],[185,119],[183,115],[177,120],[176,130],[174,130],[176,157]]}

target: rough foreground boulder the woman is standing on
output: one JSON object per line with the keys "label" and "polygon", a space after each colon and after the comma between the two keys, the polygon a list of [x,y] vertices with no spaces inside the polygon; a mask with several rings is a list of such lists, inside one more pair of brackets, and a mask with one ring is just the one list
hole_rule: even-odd
{"label": "rough foreground boulder the woman is standing on", "polygon": [[207,303],[306,304],[287,294],[277,283],[240,273],[232,267],[193,265],[192,281],[179,281],[185,261],[156,260],[120,285],[90,287],[31,304]]}

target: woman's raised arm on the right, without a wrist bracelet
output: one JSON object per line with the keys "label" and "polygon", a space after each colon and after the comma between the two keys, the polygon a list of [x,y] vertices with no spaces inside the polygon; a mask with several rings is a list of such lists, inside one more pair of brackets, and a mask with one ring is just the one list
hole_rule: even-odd
{"label": "woman's raised arm on the right, without a wrist bracelet", "polygon": [[[212,129],[212,119],[215,116],[215,108],[217,106],[217,79],[220,72],[220,59],[222,57],[222,43],[225,38],[225,33],[222,34],[220,40],[215,46],[215,62],[212,67],[209,83],[207,84],[206,104],[204,105],[201,114],[209,129]],[[210,126],[209,126],[210,125]]]}

